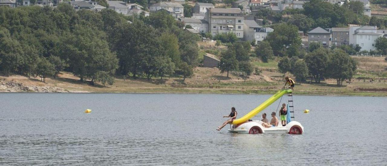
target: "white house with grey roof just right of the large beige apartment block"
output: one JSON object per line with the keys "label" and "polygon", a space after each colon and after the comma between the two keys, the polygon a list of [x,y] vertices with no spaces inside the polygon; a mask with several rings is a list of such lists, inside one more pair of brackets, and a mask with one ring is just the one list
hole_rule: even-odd
{"label": "white house with grey roof just right of the large beige apartment block", "polygon": [[263,41],[272,31],[274,29],[259,26],[254,20],[245,20],[243,25],[243,40],[251,42],[255,39],[255,43],[258,43],[259,41]]}

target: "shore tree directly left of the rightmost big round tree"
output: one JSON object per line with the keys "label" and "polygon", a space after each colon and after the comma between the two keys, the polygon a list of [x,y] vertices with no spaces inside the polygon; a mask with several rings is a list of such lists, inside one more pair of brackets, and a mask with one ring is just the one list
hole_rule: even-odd
{"label": "shore tree directly left of the rightmost big round tree", "polygon": [[315,78],[315,82],[320,83],[321,78],[325,76],[327,71],[328,60],[328,52],[325,48],[319,48],[305,57],[311,81]]}

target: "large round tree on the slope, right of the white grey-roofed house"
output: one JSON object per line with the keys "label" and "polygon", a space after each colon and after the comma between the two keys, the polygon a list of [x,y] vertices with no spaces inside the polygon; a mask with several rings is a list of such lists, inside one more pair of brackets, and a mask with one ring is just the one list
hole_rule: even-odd
{"label": "large round tree on the slope, right of the white grey-roofed house", "polygon": [[290,45],[301,46],[301,38],[296,26],[283,23],[274,26],[273,29],[274,32],[269,33],[266,39],[270,42],[274,55],[279,55],[284,48]]}

